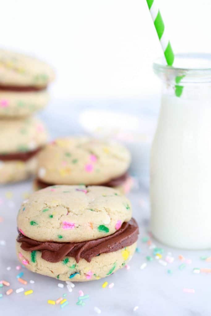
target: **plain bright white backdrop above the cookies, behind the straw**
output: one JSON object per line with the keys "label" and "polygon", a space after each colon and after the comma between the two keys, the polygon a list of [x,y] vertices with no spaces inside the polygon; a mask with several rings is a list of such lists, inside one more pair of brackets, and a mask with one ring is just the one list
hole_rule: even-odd
{"label": "plain bright white backdrop above the cookies, behind the straw", "polygon": [[[211,1],[160,0],[175,52],[211,52]],[[57,72],[56,98],[157,94],[162,54],[146,0],[6,0],[0,46],[36,55]]]}

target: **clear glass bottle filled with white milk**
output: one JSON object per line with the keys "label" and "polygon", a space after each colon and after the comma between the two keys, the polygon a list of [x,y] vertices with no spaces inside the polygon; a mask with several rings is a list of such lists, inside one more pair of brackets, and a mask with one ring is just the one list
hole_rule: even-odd
{"label": "clear glass bottle filled with white milk", "polygon": [[177,55],[174,68],[159,61],[153,68],[163,91],[151,149],[151,231],[169,246],[211,248],[211,55]]}

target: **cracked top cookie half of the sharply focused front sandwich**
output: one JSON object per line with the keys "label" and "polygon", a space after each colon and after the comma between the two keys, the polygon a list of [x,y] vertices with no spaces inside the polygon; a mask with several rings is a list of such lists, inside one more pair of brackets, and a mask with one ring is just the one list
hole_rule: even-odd
{"label": "cracked top cookie half of the sharply focused front sandwich", "polygon": [[131,216],[129,200],[115,189],[54,185],[23,202],[17,227],[38,241],[80,242],[113,234]]}

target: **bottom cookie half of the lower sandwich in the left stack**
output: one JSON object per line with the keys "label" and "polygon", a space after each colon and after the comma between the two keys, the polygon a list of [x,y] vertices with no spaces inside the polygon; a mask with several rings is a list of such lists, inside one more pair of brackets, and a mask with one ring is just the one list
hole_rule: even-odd
{"label": "bottom cookie half of the lower sandwich in the left stack", "polygon": [[0,161],[0,184],[18,182],[34,175],[37,166],[35,157],[27,160]]}

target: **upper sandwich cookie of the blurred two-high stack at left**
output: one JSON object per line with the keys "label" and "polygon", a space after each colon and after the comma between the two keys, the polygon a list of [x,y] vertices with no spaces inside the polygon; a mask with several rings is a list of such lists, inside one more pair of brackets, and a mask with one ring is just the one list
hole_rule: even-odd
{"label": "upper sandwich cookie of the blurred two-high stack at left", "polygon": [[24,117],[43,108],[53,69],[23,54],[0,50],[0,117]]}

